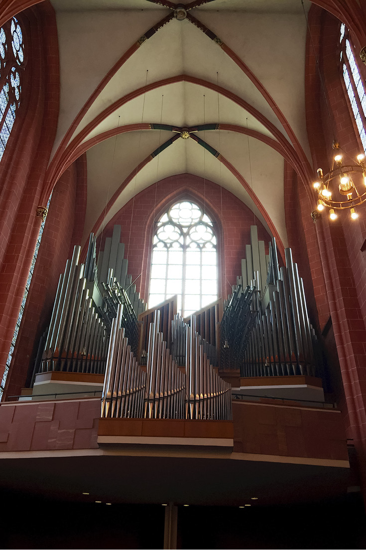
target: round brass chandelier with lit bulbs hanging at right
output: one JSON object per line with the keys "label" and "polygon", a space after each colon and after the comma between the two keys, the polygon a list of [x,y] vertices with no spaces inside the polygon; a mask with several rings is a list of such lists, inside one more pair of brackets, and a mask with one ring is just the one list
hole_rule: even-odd
{"label": "round brass chandelier with lit bulbs hanging at right", "polygon": [[365,155],[357,156],[357,164],[352,159],[344,162],[339,143],[334,141],[332,147],[336,154],[330,172],[323,175],[323,170],[318,168],[318,180],[313,183],[318,195],[317,208],[320,212],[329,208],[331,220],[337,219],[336,210],[346,209],[350,210],[352,219],[357,219],[356,206],[366,201]]}

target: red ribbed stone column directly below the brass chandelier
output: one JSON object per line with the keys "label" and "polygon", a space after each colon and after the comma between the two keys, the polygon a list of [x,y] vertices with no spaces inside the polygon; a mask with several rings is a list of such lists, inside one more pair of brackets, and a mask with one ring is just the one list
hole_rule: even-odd
{"label": "red ribbed stone column directly below the brass chandelier", "polygon": [[347,436],[357,451],[366,502],[366,328],[341,222],[329,227],[321,217],[315,227],[347,403]]}

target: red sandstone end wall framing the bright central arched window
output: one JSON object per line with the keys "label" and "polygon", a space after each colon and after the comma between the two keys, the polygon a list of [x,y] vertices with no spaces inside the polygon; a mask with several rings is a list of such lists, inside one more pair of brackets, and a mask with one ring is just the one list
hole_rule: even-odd
{"label": "red sandstone end wall framing the bright central arched window", "polygon": [[[106,237],[112,236],[113,226],[120,224],[121,241],[125,243],[125,256],[129,260],[129,273],[132,275],[132,281],[142,273],[136,285],[146,298],[153,221],[154,219],[157,221],[168,206],[185,199],[196,200],[201,207],[206,204],[207,214],[215,222],[214,228],[219,237],[219,256],[224,256],[224,265],[219,270],[221,271],[221,282],[219,282],[221,292],[228,294],[231,290],[230,285],[236,283],[236,277],[241,274],[241,259],[245,257],[245,245],[250,243],[250,226],[254,223],[253,212],[230,191],[222,188],[221,216],[219,185],[209,180],[203,181],[202,178],[192,174],[175,175],[141,191],[135,197],[135,201],[130,200],[121,208],[103,232],[101,250],[104,249]],[[133,213],[132,204],[134,204]],[[268,254],[268,242],[271,237],[258,219],[256,224],[258,239],[264,240],[266,254]]]}

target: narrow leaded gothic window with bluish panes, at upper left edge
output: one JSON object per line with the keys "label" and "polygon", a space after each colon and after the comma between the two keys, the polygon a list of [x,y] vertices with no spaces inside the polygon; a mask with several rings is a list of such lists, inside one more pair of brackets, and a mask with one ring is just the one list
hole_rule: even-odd
{"label": "narrow leaded gothic window with bluish panes, at upper left edge", "polygon": [[24,66],[23,32],[13,17],[0,28],[0,160],[20,105]]}

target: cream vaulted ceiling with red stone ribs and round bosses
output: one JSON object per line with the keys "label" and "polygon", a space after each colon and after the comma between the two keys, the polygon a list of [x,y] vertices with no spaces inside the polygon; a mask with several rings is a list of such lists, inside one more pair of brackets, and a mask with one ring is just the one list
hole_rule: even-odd
{"label": "cream vaulted ceiling with red stone ribs and round bosses", "polygon": [[301,0],[213,0],[182,20],[174,8],[187,1],[52,4],[61,96],[49,173],[86,151],[83,241],[106,205],[105,223],[147,186],[191,173],[230,190],[286,246],[284,160],[310,166]]}

